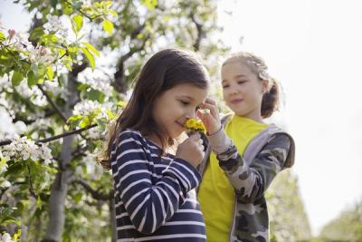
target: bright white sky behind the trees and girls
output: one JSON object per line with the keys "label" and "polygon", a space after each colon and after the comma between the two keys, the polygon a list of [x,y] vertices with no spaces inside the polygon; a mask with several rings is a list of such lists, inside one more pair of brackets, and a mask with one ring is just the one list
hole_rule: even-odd
{"label": "bright white sky behind the trees and girls", "polygon": [[[29,16],[0,1],[2,23],[26,31]],[[280,116],[297,149],[292,171],[317,235],[362,200],[362,1],[219,2],[224,43],[262,56],[281,82]]]}

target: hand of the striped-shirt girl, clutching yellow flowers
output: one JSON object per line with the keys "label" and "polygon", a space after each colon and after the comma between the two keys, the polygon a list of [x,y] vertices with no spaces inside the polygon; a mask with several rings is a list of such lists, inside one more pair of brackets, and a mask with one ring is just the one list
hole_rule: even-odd
{"label": "hand of the striped-shirt girl, clutching yellow flowers", "polygon": [[205,152],[203,140],[199,133],[195,133],[178,145],[176,158],[188,161],[196,167],[204,160]]}

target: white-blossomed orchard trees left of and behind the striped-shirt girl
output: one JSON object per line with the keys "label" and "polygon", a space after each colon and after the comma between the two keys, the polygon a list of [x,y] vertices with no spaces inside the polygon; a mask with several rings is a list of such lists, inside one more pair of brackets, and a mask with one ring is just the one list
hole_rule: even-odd
{"label": "white-blossomed orchard trees left of and behind the striped-shirt girl", "polygon": [[[18,2],[18,1],[16,1]],[[28,34],[2,26],[0,232],[22,241],[115,239],[112,179],[95,163],[145,58],[194,49],[210,73],[226,51],[214,1],[23,1]],[[7,26],[10,27],[11,26]]]}

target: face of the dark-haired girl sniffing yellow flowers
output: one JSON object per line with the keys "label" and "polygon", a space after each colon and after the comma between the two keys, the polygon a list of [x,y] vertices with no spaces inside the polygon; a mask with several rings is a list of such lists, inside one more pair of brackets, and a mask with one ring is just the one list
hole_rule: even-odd
{"label": "face of the dark-haired girl sniffing yellow flowers", "polygon": [[192,84],[179,84],[161,93],[153,105],[152,117],[163,131],[164,138],[176,139],[187,119],[195,118],[195,111],[205,102],[208,89]]}

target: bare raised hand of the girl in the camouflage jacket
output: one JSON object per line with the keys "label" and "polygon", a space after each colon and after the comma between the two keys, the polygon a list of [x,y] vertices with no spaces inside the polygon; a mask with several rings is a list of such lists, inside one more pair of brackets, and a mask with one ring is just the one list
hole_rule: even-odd
{"label": "bare raised hand of the girl in the camouflage jacket", "polygon": [[201,104],[201,108],[208,109],[210,111],[209,113],[203,113],[202,111],[196,112],[197,117],[204,122],[208,135],[212,135],[219,131],[221,128],[221,121],[219,111],[217,111],[216,108],[216,102],[207,98],[205,103]]}

